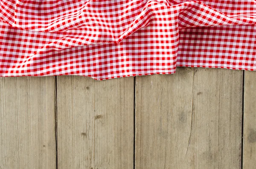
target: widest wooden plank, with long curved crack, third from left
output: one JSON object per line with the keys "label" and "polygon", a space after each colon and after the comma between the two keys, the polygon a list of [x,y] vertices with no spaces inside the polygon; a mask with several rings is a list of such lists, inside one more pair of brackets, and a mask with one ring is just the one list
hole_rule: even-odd
{"label": "widest wooden plank, with long curved crack, third from left", "polygon": [[239,169],[242,71],[137,77],[136,169]]}

